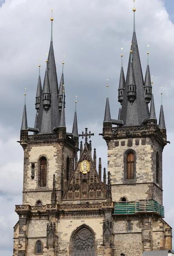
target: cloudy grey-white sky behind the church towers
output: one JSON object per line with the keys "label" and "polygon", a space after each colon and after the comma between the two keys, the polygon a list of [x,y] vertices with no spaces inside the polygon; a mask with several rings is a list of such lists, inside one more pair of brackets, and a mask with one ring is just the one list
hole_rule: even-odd
{"label": "cloudy grey-white sky behind the church towers", "polygon": [[[75,95],[78,95],[79,132],[95,133],[93,147],[107,167],[106,143],[98,134],[106,100],[113,119],[118,116],[117,89],[123,47],[126,73],[133,32],[132,0],[0,0],[0,255],[12,256],[14,205],[22,203],[23,150],[19,143],[24,88],[28,125],[34,126],[38,59],[44,79],[53,9],[53,44],[60,81],[65,55],[66,123],[71,132]],[[136,0],[136,35],[145,74],[147,51],[154,76],[154,100],[159,116],[160,92],[168,144],[163,151],[165,221],[174,226],[174,1]],[[147,49],[147,45],[150,47]]]}

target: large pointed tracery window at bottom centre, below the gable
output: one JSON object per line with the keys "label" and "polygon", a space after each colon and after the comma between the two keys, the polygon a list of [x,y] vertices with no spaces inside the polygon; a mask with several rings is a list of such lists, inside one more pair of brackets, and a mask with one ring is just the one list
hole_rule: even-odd
{"label": "large pointed tracery window at bottom centre, below the gable", "polygon": [[79,230],[73,238],[73,256],[95,256],[95,238],[87,228]]}

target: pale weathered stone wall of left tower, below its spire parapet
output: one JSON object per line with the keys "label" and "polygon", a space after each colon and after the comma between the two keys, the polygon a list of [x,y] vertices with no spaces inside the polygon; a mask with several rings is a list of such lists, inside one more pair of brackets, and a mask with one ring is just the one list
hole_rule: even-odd
{"label": "pale weathered stone wall of left tower, below its spire parapet", "polygon": [[[39,160],[42,156],[47,159],[47,183],[46,187],[40,188]],[[63,153],[58,143],[37,143],[27,146],[24,151],[23,204],[35,205],[38,200],[41,200],[42,204],[50,204],[54,174],[57,201],[61,200],[62,170],[66,170],[67,156],[72,158],[72,166],[74,166],[74,152],[70,146],[63,146]],[[33,179],[31,178],[32,163],[35,164]]]}

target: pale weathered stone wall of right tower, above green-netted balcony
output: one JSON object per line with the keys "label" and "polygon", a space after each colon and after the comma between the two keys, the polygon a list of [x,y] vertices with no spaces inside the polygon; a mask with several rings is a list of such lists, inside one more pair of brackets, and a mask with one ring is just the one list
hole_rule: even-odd
{"label": "pale weathered stone wall of right tower, above green-netted balcony", "polygon": [[[136,175],[126,180],[125,152],[135,151]],[[159,153],[159,185],[156,183],[156,154]],[[154,199],[162,204],[162,147],[150,138],[111,140],[108,144],[108,171],[110,171],[112,199],[128,201]],[[160,187],[160,188],[159,188]]]}

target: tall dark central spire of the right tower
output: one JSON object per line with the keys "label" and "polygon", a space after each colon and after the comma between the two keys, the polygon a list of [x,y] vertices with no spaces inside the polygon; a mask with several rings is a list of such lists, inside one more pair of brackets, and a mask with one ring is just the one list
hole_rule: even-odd
{"label": "tall dark central spire of the right tower", "polygon": [[[135,14],[135,8],[133,9]],[[135,32],[135,22],[133,25],[133,38],[132,38],[132,45],[129,63],[128,63],[128,72],[126,77],[126,85],[125,91],[123,95],[123,102],[122,102],[122,111],[121,111],[121,120],[125,126],[132,126],[132,125],[142,125],[142,120],[148,117],[146,102],[145,102],[145,93],[144,93],[144,80],[142,76],[142,68],[141,62],[139,58],[139,50],[138,44],[136,40],[136,32]],[[132,64],[131,64],[131,55],[132,55]],[[134,102],[130,102],[128,100],[128,85],[130,84],[130,73],[132,73],[131,69],[133,70],[134,75],[134,82],[136,84],[136,98]],[[131,88],[132,89],[132,88]],[[134,88],[135,89],[135,88]]]}

